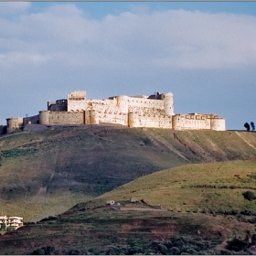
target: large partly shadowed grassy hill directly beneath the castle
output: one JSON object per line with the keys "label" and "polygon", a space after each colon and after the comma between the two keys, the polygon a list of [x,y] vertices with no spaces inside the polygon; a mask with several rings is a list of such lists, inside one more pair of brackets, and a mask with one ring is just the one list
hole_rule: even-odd
{"label": "large partly shadowed grassy hill directly beneath the castle", "polygon": [[1,211],[38,220],[155,171],[255,155],[256,133],[104,125],[14,133],[0,137]]}

